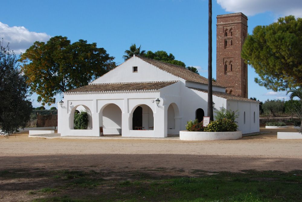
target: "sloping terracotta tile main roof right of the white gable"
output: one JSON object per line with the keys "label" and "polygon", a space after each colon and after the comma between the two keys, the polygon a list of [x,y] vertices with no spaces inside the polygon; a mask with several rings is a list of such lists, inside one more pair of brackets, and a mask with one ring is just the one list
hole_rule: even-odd
{"label": "sloping terracotta tile main roof right of the white gable", "polygon": [[[201,75],[198,75],[194,72],[191,72],[190,70],[188,70],[185,67],[161,62],[158,60],[154,60],[154,59],[150,59],[150,58],[146,58],[146,57],[142,57],[142,56],[135,56],[135,57],[138,57],[138,58],[142,59],[143,61],[145,61],[153,66],[156,66],[165,72],[168,72],[168,73],[178,76],[182,79],[185,79],[186,81],[202,83],[202,84],[206,84],[206,85],[208,84],[207,78],[205,78]],[[213,85],[219,86],[219,87],[224,87],[222,85],[219,85],[217,82],[213,82]]]}

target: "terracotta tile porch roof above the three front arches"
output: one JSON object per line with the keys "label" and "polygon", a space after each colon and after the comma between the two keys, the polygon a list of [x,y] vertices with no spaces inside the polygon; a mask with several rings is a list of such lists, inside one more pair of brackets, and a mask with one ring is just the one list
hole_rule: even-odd
{"label": "terracotta tile porch roof above the three front arches", "polygon": [[178,81],[90,84],[90,85],[82,86],[80,88],[66,91],[65,94],[102,93],[102,92],[120,92],[120,91],[156,91],[160,88],[164,88],[176,82]]}

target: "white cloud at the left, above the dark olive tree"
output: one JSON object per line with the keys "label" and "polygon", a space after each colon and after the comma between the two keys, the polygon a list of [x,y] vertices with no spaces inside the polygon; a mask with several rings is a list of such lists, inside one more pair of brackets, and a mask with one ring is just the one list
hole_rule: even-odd
{"label": "white cloud at the left, above the dark olive tree", "polygon": [[0,38],[3,38],[5,44],[9,42],[11,50],[16,54],[24,53],[35,41],[46,42],[50,35],[46,33],[31,32],[25,27],[9,27],[0,22]]}

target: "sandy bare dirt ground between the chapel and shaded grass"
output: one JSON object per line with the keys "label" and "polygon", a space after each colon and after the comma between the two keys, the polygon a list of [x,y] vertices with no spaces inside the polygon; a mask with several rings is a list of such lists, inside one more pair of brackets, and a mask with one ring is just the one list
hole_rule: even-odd
{"label": "sandy bare dirt ground between the chapel and shaded grass", "polygon": [[[177,139],[44,139],[29,138],[27,133],[14,134],[8,139],[0,137],[0,172],[75,169],[189,176],[193,175],[194,170],[240,172],[253,169],[286,172],[302,169],[302,139],[277,139],[277,131],[296,130],[261,131],[268,133],[238,140],[200,142]],[[25,200],[27,195],[23,192],[11,192],[9,189],[3,191],[1,186],[7,183],[12,183],[11,186],[18,184],[0,181],[1,201]],[[25,198],[7,196],[12,193]]]}

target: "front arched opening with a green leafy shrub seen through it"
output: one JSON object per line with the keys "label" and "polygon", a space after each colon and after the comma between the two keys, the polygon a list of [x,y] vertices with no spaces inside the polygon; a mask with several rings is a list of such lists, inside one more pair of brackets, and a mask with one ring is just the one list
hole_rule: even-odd
{"label": "front arched opening with a green leafy shrub seen through it", "polygon": [[85,105],[75,106],[69,115],[71,130],[92,130],[92,115]]}

